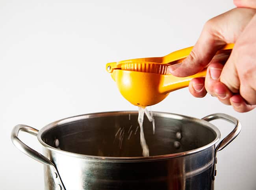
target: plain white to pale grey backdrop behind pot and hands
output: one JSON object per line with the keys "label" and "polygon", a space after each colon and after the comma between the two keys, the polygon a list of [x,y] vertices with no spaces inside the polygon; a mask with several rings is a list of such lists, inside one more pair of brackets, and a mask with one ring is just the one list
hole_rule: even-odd
{"label": "plain white to pale grey backdrop behind pot and hands", "polygon": [[[11,143],[16,124],[41,129],[78,114],[137,110],[105,64],[192,46],[208,19],[232,8],[232,0],[0,0],[0,189],[44,189],[43,165]],[[209,95],[194,98],[187,88],[152,110],[238,118],[243,129],[218,153],[215,188],[256,189],[256,110],[236,113]],[[214,124],[223,137],[232,130],[226,122]],[[35,137],[20,138],[41,151]]]}

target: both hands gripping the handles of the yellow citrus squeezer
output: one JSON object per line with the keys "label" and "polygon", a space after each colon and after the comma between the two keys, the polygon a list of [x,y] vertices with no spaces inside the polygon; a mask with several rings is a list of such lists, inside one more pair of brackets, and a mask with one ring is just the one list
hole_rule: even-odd
{"label": "both hands gripping the handles of the yellow citrus squeezer", "polygon": [[[242,2],[248,0],[235,3],[245,6]],[[215,55],[228,43],[235,43],[230,56]],[[210,19],[190,55],[182,63],[169,66],[169,72],[185,77],[206,66],[206,77],[189,83],[193,96],[201,98],[208,92],[238,112],[256,107],[256,9],[235,8]]]}

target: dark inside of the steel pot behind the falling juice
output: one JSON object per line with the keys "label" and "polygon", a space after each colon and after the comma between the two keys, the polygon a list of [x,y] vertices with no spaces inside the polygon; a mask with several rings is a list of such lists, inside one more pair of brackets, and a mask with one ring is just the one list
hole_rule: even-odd
{"label": "dark inside of the steel pot behind the falling juice", "polygon": [[[138,113],[135,111],[90,114],[84,119],[67,123],[63,120],[57,126],[46,126],[45,130],[42,129],[41,138],[49,146],[72,153],[104,157],[141,157],[137,117]],[[154,113],[154,119],[155,134],[152,123],[146,116],[143,122],[150,156],[190,151],[217,138],[216,129],[202,120],[167,113]]]}

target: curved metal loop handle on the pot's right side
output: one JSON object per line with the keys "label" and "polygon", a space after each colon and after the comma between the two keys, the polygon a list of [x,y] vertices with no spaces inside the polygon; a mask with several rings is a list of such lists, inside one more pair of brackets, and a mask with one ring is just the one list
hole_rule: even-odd
{"label": "curved metal loop handle on the pot's right side", "polygon": [[223,119],[234,124],[234,129],[217,144],[215,152],[221,151],[228,144],[230,144],[230,142],[232,142],[232,140],[234,140],[241,131],[241,123],[230,115],[224,113],[215,113],[202,118],[202,120],[206,120],[208,122],[216,119]]}

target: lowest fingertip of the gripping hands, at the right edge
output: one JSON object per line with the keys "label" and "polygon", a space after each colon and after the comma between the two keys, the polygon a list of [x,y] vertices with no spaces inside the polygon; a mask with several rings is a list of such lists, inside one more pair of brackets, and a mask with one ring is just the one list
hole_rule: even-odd
{"label": "lowest fingertip of the gripping hands, at the right edge", "polygon": [[245,103],[245,101],[239,94],[232,96],[230,98],[230,102],[234,110],[240,113],[251,111],[256,107],[256,105],[248,105],[247,103]]}

